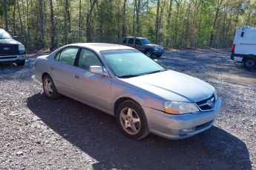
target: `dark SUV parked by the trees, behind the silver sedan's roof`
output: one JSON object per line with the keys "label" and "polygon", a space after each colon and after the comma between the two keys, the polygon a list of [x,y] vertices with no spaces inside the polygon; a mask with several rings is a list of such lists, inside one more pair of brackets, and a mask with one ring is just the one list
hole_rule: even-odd
{"label": "dark SUV parked by the trees, behind the silver sedan's roof", "polygon": [[156,56],[160,58],[163,55],[163,46],[152,44],[147,38],[127,36],[122,38],[122,44],[133,47],[143,52],[148,57]]}

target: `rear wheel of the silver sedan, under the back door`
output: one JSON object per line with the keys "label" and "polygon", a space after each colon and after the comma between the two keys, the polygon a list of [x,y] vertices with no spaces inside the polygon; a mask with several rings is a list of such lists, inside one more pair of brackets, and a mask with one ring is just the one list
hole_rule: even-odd
{"label": "rear wheel of the silver sedan, under the back door", "polygon": [[57,92],[56,86],[53,83],[53,79],[50,77],[50,75],[45,75],[44,78],[42,78],[42,82],[47,98],[58,99],[61,97],[61,95]]}

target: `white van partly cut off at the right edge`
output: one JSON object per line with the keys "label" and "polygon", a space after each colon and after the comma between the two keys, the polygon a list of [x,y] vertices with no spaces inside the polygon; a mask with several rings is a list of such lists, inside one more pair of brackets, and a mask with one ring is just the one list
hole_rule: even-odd
{"label": "white van partly cut off at the right edge", "polygon": [[243,62],[243,66],[256,67],[256,27],[240,27],[234,35],[231,59]]}

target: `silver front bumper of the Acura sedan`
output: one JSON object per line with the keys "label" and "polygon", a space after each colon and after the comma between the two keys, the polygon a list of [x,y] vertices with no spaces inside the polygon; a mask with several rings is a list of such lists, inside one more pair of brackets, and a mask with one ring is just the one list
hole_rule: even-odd
{"label": "silver front bumper of the Acura sedan", "polygon": [[183,139],[209,129],[220,112],[222,101],[216,101],[213,111],[185,115],[168,115],[164,112],[143,107],[151,133],[168,139]]}

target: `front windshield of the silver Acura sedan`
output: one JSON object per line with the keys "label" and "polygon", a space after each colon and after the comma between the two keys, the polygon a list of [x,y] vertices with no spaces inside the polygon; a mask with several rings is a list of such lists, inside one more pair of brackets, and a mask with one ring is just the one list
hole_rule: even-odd
{"label": "front windshield of the silver Acura sedan", "polygon": [[101,53],[119,78],[131,78],[166,70],[137,50],[108,50]]}

